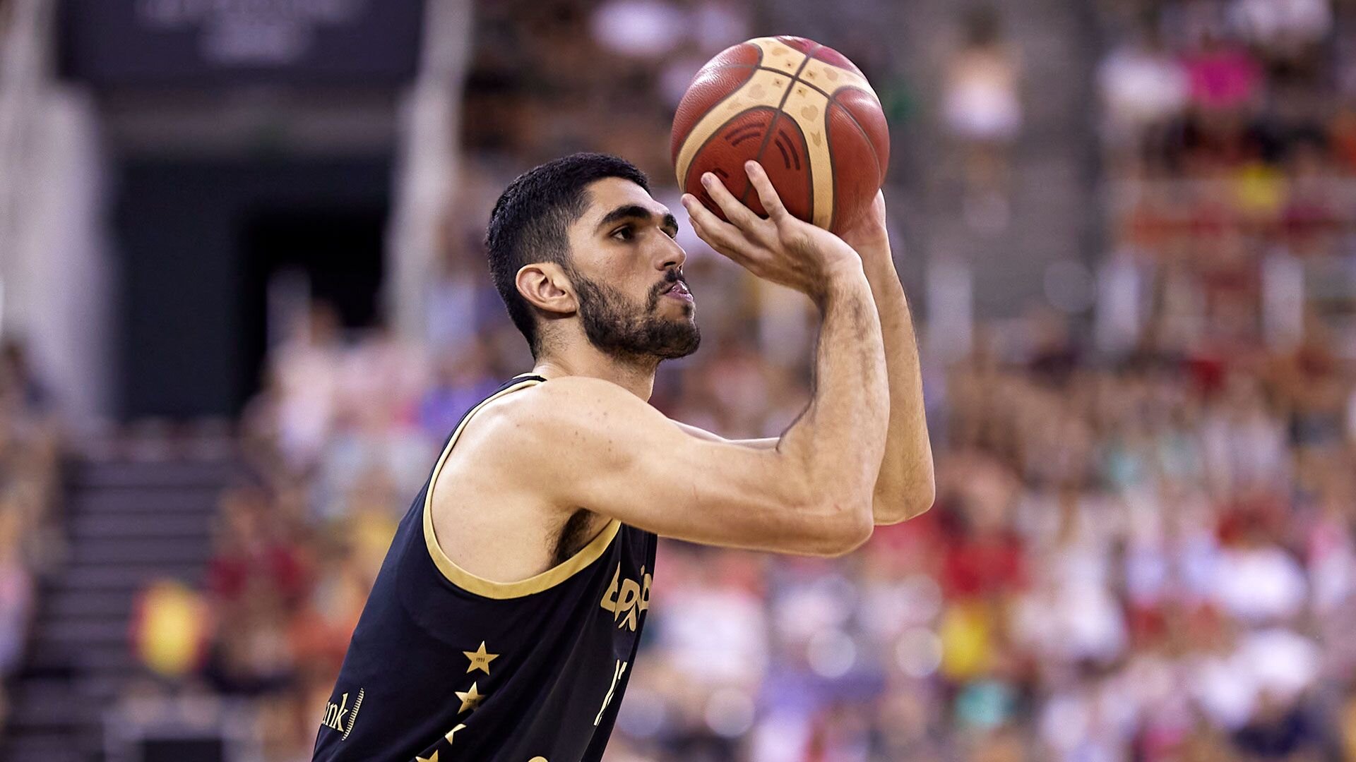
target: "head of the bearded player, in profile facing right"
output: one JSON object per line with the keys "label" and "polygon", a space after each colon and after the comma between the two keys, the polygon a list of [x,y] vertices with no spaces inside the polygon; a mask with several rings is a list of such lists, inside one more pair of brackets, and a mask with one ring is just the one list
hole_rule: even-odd
{"label": "head of the bearded player, in profile facing right", "polygon": [[485,233],[490,273],[533,357],[576,332],[622,359],[669,359],[701,335],[678,222],[624,159],[575,153],[519,175]]}

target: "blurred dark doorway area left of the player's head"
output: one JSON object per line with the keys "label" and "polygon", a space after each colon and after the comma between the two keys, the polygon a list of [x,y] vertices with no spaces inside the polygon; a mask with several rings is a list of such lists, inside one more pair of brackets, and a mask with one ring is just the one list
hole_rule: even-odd
{"label": "blurred dark doorway area left of the player's head", "polygon": [[258,388],[279,267],[305,270],[350,327],[372,323],[389,184],[386,159],[126,161],[122,416],[237,414]]}

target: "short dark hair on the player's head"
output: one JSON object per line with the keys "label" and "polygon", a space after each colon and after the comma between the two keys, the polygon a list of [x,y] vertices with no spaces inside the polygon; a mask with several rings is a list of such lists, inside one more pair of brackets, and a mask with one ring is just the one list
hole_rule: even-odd
{"label": "short dark hair on the player's head", "polygon": [[533,357],[541,338],[532,305],[518,293],[518,270],[533,262],[570,266],[568,228],[589,206],[589,184],[603,178],[631,180],[650,193],[650,179],[631,161],[606,153],[572,153],[518,175],[490,213],[490,277]]}

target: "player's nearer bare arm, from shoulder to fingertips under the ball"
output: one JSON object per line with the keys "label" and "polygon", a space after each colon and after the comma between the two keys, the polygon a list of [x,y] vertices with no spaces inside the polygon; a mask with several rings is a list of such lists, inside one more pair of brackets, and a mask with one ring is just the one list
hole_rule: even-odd
{"label": "player's nearer bare arm, from shoulder to fingertips under the ball", "polygon": [[[526,473],[564,511],[584,507],[693,542],[839,555],[873,526],[890,404],[880,320],[856,252],[789,218],[761,168],[750,176],[769,220],[689,212],[717,251],[800,286],[823,315],[814,396],[777,446],[696,437],[621,386],[583,377],[533,389],[514,405],[510,431]],[[723,187],[712,195],[730,201]]]}

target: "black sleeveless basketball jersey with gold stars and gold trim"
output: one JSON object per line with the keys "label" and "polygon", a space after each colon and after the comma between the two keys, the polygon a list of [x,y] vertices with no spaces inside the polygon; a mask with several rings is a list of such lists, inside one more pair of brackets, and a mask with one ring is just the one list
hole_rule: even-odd
{"label": "black sleeveless basketball jersey with gold stars and gold trim", "polygon": [[458,568],[433,530],[430,491],[466,420],[542,381],[509,381],[447,438],[358,620],[315,761],[602,758],[650,607],[655,536],[614,519],[567,561],[496,583]]}

